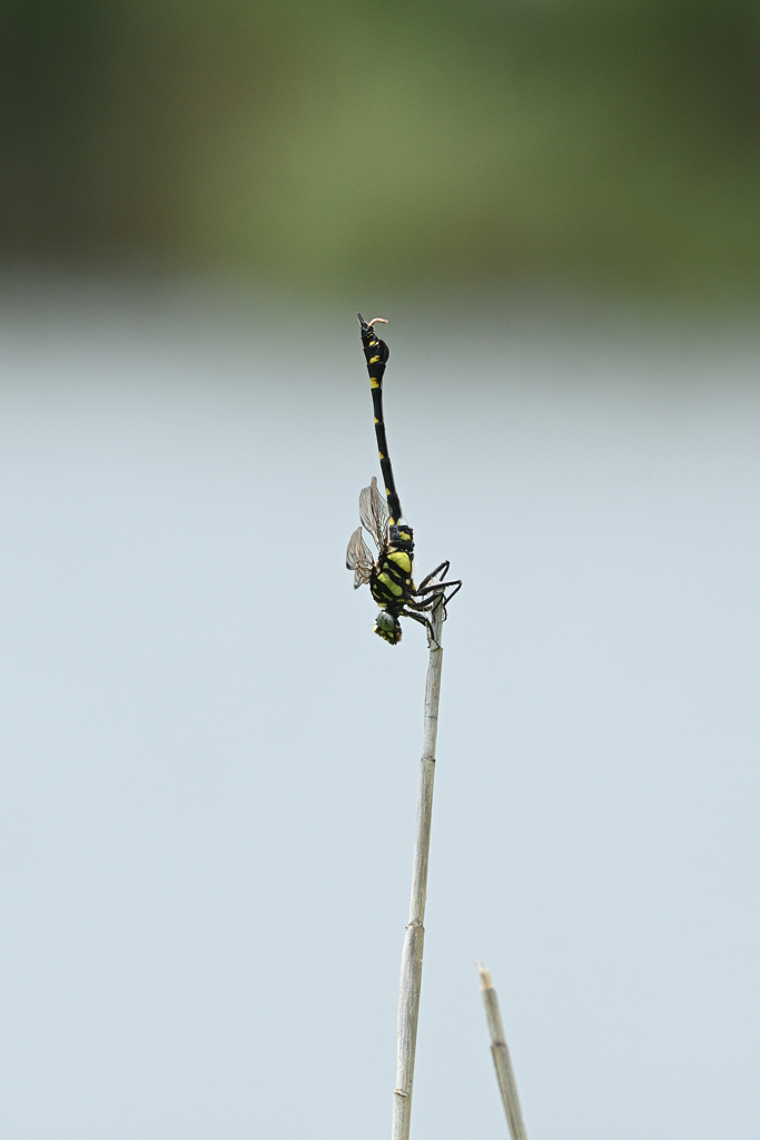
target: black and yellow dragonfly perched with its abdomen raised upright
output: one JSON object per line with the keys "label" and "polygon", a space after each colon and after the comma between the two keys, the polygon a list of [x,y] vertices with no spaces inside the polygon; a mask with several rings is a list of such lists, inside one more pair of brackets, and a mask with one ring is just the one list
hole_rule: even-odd
{"label": "black and yellow dragonfly perched with its abdomen raised upright", "polygon": [[[446,580],[450,562],[441,562],[432,573],[415,586],[414,553],[415,535],[406,522],[401,503],[395,489],[393,467],[387,449],[385,421],[383,416],[383,375],[390,356],[387,344],[375,332],[375,325],[387,324],[382,317],[365,321],[357,314],[361,326],[361,341],[367,358],[367,370],[375,412],[375,433],[381,461],[381,471],[385,482],[385,499],[373,475],[369,487],[359,495],[359,518],[361,526],[349,539],[345,564],[353,570],[353,587],[368,585],[374,600],[379,605],[375,622],[375,633],[390,645],[401,641],[401,618],[411,618],[427,629],[427,641],[431,646],[438,646],[438,641],[431,622],[431,617],[439,605],[443,606],[443,618],[448,616],[447,605],[461,589],[458,579]],[[377,555],[367,546],[362,528],[371,537]]]}

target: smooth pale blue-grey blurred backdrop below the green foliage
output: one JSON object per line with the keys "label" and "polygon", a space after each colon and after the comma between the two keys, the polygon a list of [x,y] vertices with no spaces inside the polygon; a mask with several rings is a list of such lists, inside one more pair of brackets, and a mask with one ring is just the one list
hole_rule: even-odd
{"label": "smooth pale blue-grey blurred backdrop below the green foliage", "polygon": [[755,1138],[753,337],[33,277],[0,312],[2,1134],[390,1133],[426,651],[343,568],[357,306],[393,318],[419,568],[465,579],[415,1140],[506,1135],[475,958],[531,1140]]}

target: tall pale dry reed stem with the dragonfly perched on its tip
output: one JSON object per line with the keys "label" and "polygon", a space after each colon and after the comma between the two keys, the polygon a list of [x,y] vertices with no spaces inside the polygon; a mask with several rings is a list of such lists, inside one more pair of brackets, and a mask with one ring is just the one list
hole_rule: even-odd
{"label": "tall pale dry reed stem with the dragonfly perched on its tip", "polygon": [[401,982],[399,985],[399,1035],[397,1080],[393,1093],[392,1140],[409,1140],[411,1121],[411,1088],[415,1078],[417,1049],[417,1020],[419,991],[423,980],[423,944],[425,940],[425,899],[427,898],[427,864],[430,857],[431,820],[433,814],[433,781],[435,777],[435,738],[438,735],[438,706],[441,693],[441,627],[443,606],[436,605],[431,614],[434,640],[431,643],[425,685],[425,718],[423,755],[419,762],[419,792],[417,796],[417,826],[415,858],[411,876],[409,925],[401,952]]}

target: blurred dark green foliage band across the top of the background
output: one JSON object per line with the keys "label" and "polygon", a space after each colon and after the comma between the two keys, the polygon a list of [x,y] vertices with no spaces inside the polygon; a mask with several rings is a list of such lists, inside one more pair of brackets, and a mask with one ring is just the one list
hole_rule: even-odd
{"label": "blurred dark green foliage band across the top of the background", "polygon": [[754,290],[749,0],[0,0],[0,252]]}

